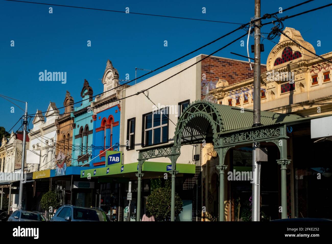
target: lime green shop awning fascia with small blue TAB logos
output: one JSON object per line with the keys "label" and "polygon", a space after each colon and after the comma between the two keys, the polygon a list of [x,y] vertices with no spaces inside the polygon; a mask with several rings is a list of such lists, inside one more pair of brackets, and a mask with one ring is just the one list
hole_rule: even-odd
{"label": "lime green shop awning fascia with small blue TAB logos", "polygon": [[[86,178],[88,175],[90,177],[97,176],[108,176],[108,175],[122,175],[126,173],[137,172],[137,163],[130,164],[115,164],[108,167],[86,169],[81,170],[81,178]],[[171,163],[161,163],[161,162],[147,162],[145,161],[142,166],[142,172],[165,172],[170,171]],[[183,174],[195,174],[196,165],[195,164],[176,164],[176,170]]]}

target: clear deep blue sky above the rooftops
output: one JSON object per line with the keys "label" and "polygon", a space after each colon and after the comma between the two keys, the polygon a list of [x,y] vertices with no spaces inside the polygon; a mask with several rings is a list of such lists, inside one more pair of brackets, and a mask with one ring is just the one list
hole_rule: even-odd
{"label": "clear deep blue sky above the rooftops", "polygon": [[[129,7],[130,12],[236,23],[247,23],[254,15],[254,0],[36,1],[118,11],[125,11]],[[300,2],[302,0],[263,0],[261,13],[277,12],[279,7],[285,9]],[[316,0],[279,16],[292,15],[328,3],[328,0]],[[48,13],[49,7],[53,7],[53,14]],[[206,7],[206,14],[202,13],[203,7]],[[328,16],[331,8],[286,20],[284,25],[299,30],[304,40],[313,44],[317,54],[330,52],[332,48]],[[99,79],[103,76],[107,59],[118,69],[120,79],[125,79],[126,73],[129,74],[129,79],[133,79],[135,67],[155,69],[238,27],[234,24],[4,0],[0,0],[0,23],[0,94],[27,101],[28,114],[36,113],[37,109],[45,111],[49,101],[62,107],[66,90],[78,102],[81,100],[84,79],[89,81],[94,95],[101,93],[103,86]],[[271,25],[265,26],[262,32],[269,32],[271,28]],[[243,31],[238,31],[173,65],[200,53],[209,54],[242,34]],[[11,40],[15,41],[14,47],[10,46]],[[88,40],[91,41],[91,47],[87,46]],[[164,47],[164,40],[168,42],[167,47]],[[317,47],[317,40],[321,41],[320,47]],[[278,42],[279,38],[274,41]],[[275,44],[268,40],[263,43],[265,52],[262,53],[262,63],[266,63]],[[250,39],[250,44],[253,44],[253,38]],[[246,47],[241,47],[239,41],[214,55],[246,60],[230,54],[230,51],[246,55]],[[39,72],[45,69],[67,72],[66,84],[59,81],[39,81]],[[165,69],[167,68],[156,73]],[[138,75],[144,74],[143,72],[138,71]],[[9,130],[23,111],[3,98],[0,101],[0,126]],[[24,108],[24,104],[14,102]],[[12,106],[15,107],[15,113],[11,113]],[[63,113],[63,109],[60,112]],[[14,127],[14,131],[19,127],[20,123]]]}

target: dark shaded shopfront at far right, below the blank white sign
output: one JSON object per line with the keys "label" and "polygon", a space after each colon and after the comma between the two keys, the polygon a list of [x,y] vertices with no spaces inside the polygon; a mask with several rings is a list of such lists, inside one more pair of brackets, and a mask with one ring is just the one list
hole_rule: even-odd
{"label": "dark shaded shopfront at far right, below the blank white sign", "polygon": [[293,138],[294,217],[332,218],[332,141]]}

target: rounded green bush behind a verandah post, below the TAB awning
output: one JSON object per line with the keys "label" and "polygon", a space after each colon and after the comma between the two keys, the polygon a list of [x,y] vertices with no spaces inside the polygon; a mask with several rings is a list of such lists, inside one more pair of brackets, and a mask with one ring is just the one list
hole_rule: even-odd
{"label": "rounded green bush behind a verandah post, below the TAB awning", "polygon": [[[179,195],[175,194],[175,217],[183,210],[182,205]],[[171,219],[171,183],[169,180],[165,181],[164,187],[154,189],[148,196],[146,211],[156,219]]]}

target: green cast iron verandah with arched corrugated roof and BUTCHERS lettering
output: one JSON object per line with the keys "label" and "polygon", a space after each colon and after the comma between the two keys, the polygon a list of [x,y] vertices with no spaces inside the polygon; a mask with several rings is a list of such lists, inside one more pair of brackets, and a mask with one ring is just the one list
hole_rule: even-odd
{"label": "green cast iron verandah with arched corrugated roof and BUTCHERS lettering", "polygon": [[[278,114],[261,111],[262,125],[252,127],[253,110],[235,108],[232,106],[212,104],[207,101],[191,103],[181,114],[174,135],[174,143],[138,149],[138,194],[136,221],[140,221],[141,181],[144,174],[144,161],[159,157],[168,157],[172,163],[172,195],[171,221],[175,220],[175,176],[176,161],[180,156],[182,145],[212,142],[219,155],[219,221],[224,221],[224,174],[227,166],[224,164],[227,151],[235,146],[254,142],[273,142],[280,150],[281,165],[281,206],[287,209],[286,199],[286,169],[290,164],[287,159],[286,123],[303,120],[302,117],[290,114]],[[282,218],[287,218],[287,211],[282,211]]]}

